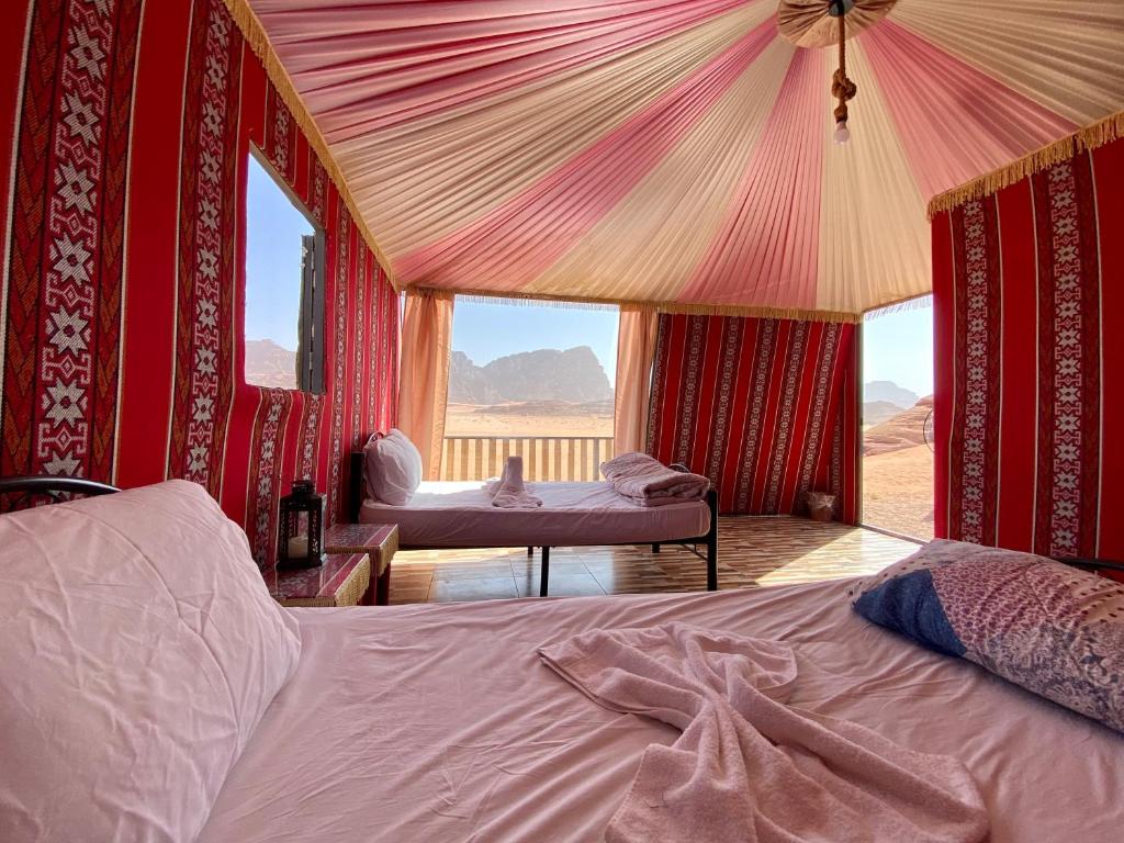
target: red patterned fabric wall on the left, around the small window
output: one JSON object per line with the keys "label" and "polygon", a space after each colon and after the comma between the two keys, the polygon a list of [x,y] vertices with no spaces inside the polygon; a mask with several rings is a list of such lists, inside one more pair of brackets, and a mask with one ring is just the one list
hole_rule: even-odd
{"label": "red patterned fabric wall on the left, around the small window", "polygon": [[[193,480],[264,564],[292,479],[338,517],[393,424],[397,296],[221,0],[11,6],[0,473]],[[326,232],[321,396],[243,374],[251,144]]]}

